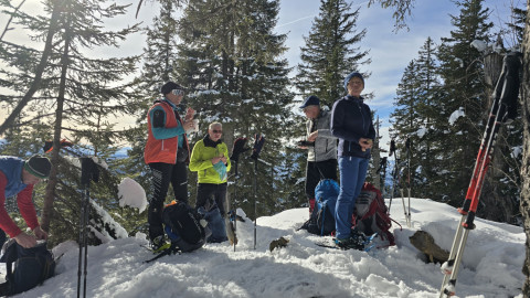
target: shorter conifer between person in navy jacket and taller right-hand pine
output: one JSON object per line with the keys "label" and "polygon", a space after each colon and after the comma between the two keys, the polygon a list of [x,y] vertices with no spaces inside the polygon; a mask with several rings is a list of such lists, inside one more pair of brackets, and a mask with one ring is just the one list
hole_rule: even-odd
{"label": "shorter conifer between person in navy jacket and taller right-hand pine", "polygon": [[[412,143],[411,173],[413,173],[414,196],[435,198],[436,185],[439,183],[436,155],[437,138],[441,131],[434,129],[438,119],[436,108],[436,89],[439,86],[435,74],[435,45],[428,38],[418,51],[418,57],[410,62],[396,91],[396,109],[391,114],[393,129],[392,138],[398,145],[399,168],[404,167],[406,159],[405,142]],[[443,146],[442,146],[443,147]],[[401,167],[400,167],[401,164]]]}

